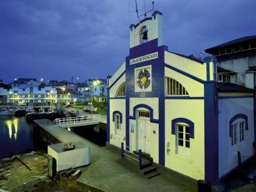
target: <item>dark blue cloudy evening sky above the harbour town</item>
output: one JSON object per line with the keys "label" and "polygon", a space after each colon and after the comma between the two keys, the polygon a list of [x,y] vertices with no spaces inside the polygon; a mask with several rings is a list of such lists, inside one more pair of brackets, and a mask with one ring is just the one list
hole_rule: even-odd
{"label": "dark blue cloudy evening sky above the harbour town", "polygon": [[[135,0],[0,0],[0,79],[105,78],[129,53]],[[143,0],[137,0],[144,9]],[[151,1],[145,0],[147,9]],[[256,34],[255,0],[162,0],[164,44],[198,56]],[[151,14],[150,14],[151,15]],[[204,56],[206,54],[203,54]]]}

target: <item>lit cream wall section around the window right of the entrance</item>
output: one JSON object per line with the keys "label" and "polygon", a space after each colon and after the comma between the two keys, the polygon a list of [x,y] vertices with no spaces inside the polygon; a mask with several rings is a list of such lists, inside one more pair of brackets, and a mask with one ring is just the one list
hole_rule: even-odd
{"label": "lit cream wall section around the window right of the entrance", "polygon": [[[166,99],[165,111],[165,158],[166,167],[194,179],[204,179],[204,100]],[[171,134],[171,122],[175,118],[186,118],[194,122],[194,136],[190,138],[190,155],[176,152],[176,135]],[[167,145],[170,143],[167,153]]]}

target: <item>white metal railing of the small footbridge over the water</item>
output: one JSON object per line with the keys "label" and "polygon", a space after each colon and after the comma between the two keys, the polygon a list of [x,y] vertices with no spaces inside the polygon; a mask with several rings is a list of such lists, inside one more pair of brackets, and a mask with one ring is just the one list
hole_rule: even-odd
{"label": "white metal railing of the small footbridge over the water", "polygon": [[90,123],[90,122],[100,122],[100,117],[92,115],[89,117],[66,117],[66,118],[57,118],[57,125],[74,125],[80,123]]}

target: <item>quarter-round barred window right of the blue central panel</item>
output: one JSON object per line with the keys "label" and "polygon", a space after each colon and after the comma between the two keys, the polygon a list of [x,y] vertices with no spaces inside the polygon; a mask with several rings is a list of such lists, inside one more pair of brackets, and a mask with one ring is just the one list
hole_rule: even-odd
{"label": "quarter-round barred window right of the blue central panel", "polygon": [[166,77],[166,95],[188,95],[188,93],[178,81]]}

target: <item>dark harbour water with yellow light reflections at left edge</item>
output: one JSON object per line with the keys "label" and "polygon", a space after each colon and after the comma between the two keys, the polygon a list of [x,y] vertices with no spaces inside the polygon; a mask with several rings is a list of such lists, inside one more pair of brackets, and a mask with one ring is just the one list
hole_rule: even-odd
{"label": "dark harbour water with yellow light reflections at left edge", "polygon": [[25,117],[0,115],[0,157],[34,148],[33,127]]}

